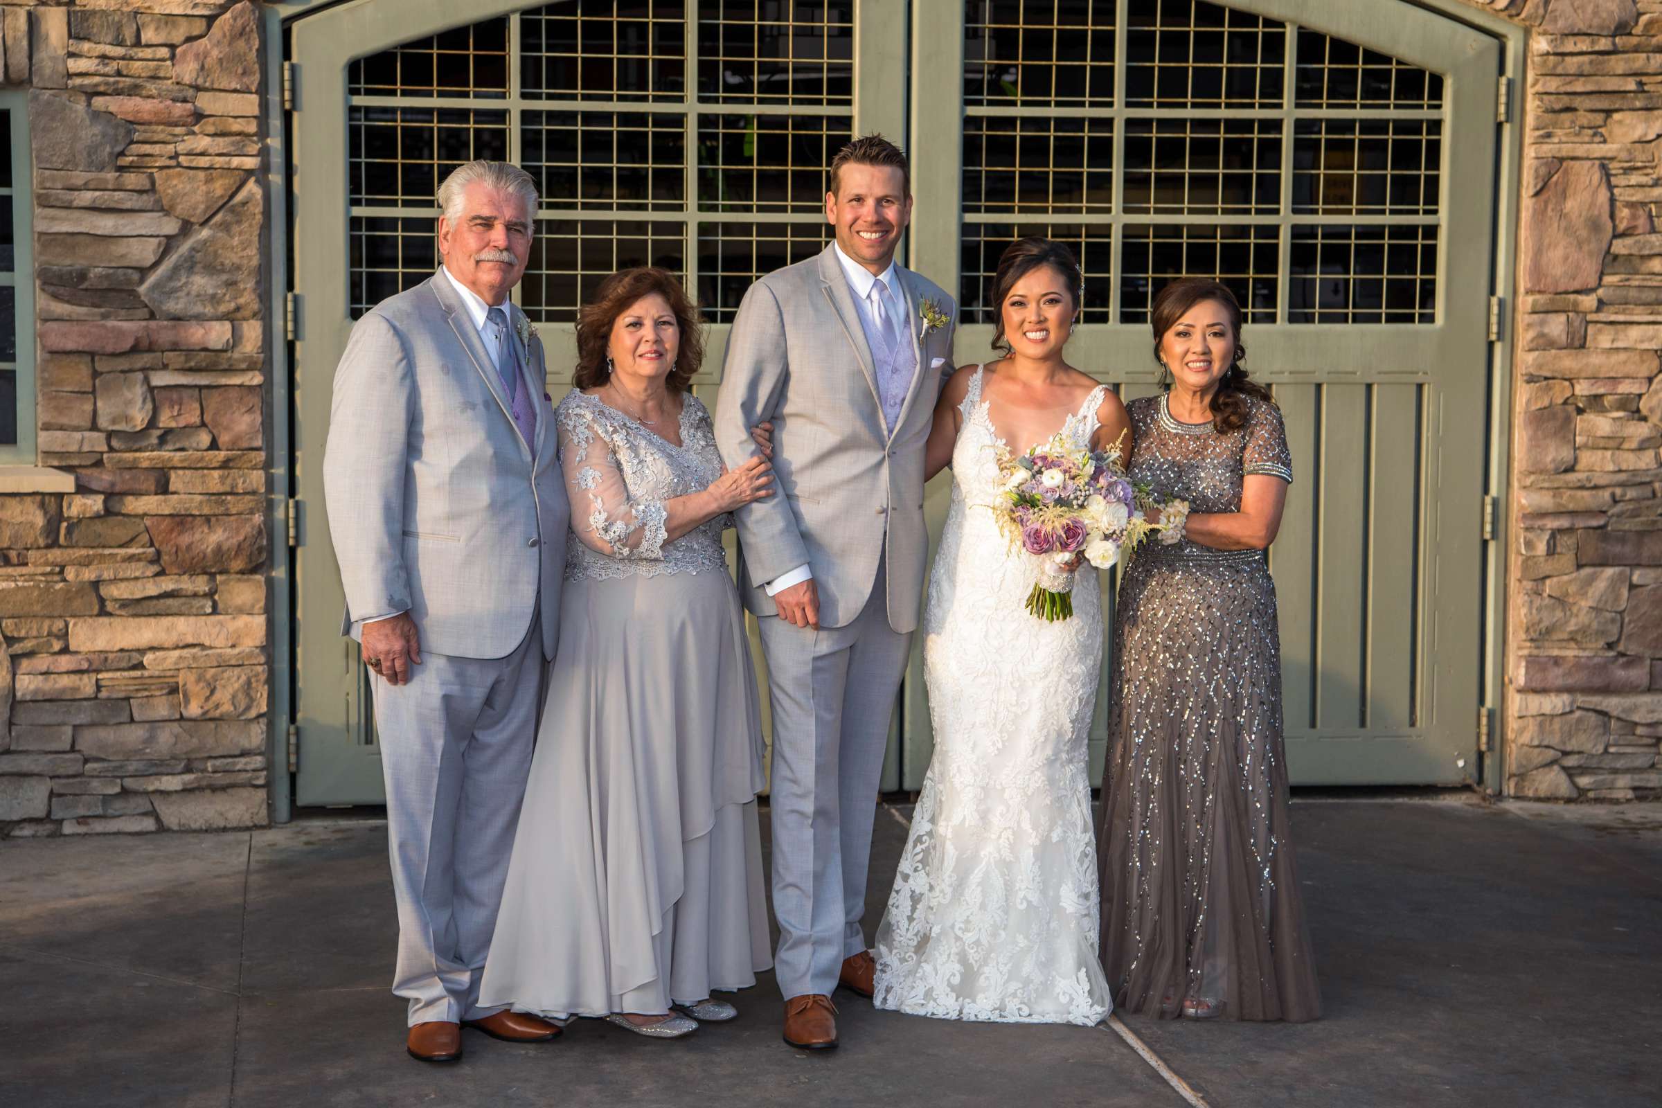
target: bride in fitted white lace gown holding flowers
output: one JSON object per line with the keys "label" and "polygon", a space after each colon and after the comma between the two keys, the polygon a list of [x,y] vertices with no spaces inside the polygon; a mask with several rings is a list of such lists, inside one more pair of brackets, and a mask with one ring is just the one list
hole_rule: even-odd
{"label": "bride in fitted white lace gown holding flowers", "polygon": [[1034,561],[991,505],[1002,452],[1060,429],[1128,453],[1130,422],[1119,397],[1062,360],[1080,291],[1065,248],[1015,243],[994,287],[1010,355],[954,374],[929,440],[929,472],[947,450],[952,463],[924,606],[934,759],[878,927],[874,1003],[1089,1027],[1112,1007],[1085,766],[1104,638],[1097,571],[1079,570],[1072,620],[1030,615]]}

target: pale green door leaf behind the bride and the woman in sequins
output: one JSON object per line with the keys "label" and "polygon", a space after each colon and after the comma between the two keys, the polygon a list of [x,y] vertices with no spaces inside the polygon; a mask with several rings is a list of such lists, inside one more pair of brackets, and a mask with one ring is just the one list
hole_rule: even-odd
{"label": "pale green door leaf behind the bride and the woman in sequins", "polygon": [[[1270,558],[1291,777],[1461,781],[1478,744],[1497,43],[1394,0],[912,7],[912,264],[961,291],[959,362],[992,357],[984,297],[1024,234],[1074,246],[1087,296],[1070,360],[1127,399],[1153,392],[1152,294],[1178,276],[1230,284],[1296,473]],[[904,736],[916,789],[931,751],[916,656]]]}

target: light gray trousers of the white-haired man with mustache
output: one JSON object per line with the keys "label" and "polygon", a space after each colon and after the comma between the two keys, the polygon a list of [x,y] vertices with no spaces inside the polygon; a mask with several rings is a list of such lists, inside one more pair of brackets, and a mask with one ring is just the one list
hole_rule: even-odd
{"label": "light gray trousers of the white-haired man with mustache", "polygon": [[392,992],[409,1023],[477,1020],[542,706],[542,626],[507,658],[422,653],[406,684],[372,679],[399,909]]}

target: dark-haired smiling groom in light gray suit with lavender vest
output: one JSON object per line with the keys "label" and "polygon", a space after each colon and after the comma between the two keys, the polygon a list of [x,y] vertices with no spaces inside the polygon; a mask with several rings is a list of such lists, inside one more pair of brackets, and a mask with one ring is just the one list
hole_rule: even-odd
{"label": "dark-haired smiling groom in light gray suit with lavender vest", "polygon": [[750,429],[773,424],[784,493],[736,522],[773,698],[774,970],[784,1042],[809,1050],[838,1043],[838,983],[873,993],[871,827],[924,586],[924,442],[952,372],[952,297],[894,262],[909,184],[879,135],[838,153],[836,241],[745,294],[716,404],[730,467],[753,453]]}

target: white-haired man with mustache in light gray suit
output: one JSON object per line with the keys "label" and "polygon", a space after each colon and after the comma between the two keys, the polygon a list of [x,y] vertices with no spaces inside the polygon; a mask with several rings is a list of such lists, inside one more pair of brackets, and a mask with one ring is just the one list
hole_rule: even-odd
{"label": "white-haired man with mustache in light gray suit", "polygon": [[334,375],[324,490],[342,633],[374,671],[399,909],[392,992],[411,1057],[455,1061],[460,1028],[560,1028],[479,1007],[543,666],[560,640],[567,500],[542,346],[509,291],[537,189],[474,161],[439,189],[444,266],[352,327]]}

